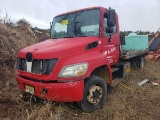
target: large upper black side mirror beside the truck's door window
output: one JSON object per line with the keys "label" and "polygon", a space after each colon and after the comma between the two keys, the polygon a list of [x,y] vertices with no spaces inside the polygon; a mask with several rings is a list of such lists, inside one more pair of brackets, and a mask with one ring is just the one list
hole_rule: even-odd
{"label": "large upper black side mirror beside the truck's door window", "polygon": [[104,14],[104,17],[107,18],[107,26],[114,27],[116,24],[116,12],[114,9],[109,8],[109,10]]}

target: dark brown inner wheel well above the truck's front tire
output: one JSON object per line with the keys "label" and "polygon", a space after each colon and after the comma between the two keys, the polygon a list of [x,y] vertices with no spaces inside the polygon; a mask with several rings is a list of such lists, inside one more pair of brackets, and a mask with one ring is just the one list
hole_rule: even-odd
{"label": "dark brown inner wheel well above the truck's front tire", "polygon": [[110,85],[110,75],[109,75],[108,67],[106,65],[103,65],[94,69],[91,75],[97,75],[103,78],[103,80]]}

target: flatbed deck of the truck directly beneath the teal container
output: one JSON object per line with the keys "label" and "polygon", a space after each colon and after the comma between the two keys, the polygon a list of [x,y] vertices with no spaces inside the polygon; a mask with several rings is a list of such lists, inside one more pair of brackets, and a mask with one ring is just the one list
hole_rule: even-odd
{"label": "flatbed deck of the truck directly beneath the teal container", "polygon": [[121,56],[120,58],[122,59],[130,59],[133,57],[137,57],[137,56],[141,56],[141,55],[145,55],[148,53],[148,49],[146,50],[138,50],[138,51],[121,51]]}

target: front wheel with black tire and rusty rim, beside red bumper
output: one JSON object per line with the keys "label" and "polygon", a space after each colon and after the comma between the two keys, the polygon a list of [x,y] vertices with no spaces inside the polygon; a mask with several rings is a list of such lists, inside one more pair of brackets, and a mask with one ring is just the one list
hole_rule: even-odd
{"label": "front wheel with black tire and rusty rim, beside red bumper", "polygon": [[107,85],[105,81],[95,75],[85,79],[83,99],[78,106],[85,112],[93,112],[102,108],[107,98]]}

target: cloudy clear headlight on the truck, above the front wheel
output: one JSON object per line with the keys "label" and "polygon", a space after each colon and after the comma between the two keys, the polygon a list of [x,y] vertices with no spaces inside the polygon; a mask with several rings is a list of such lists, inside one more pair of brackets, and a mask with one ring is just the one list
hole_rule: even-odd
{"label": "cloudy clear headlight on the truck, above the front wheel", "polygon": [[87,72],[88,63],[79,63],[63,67],[59,77],[79,77]]}

